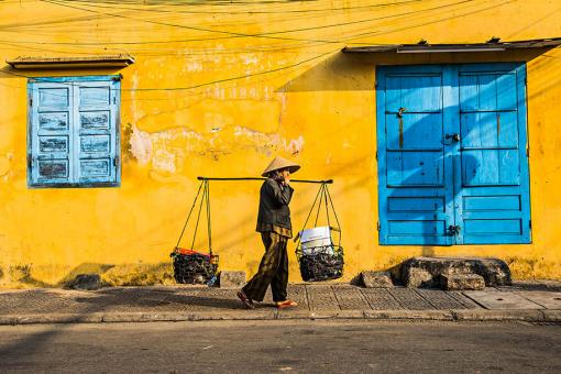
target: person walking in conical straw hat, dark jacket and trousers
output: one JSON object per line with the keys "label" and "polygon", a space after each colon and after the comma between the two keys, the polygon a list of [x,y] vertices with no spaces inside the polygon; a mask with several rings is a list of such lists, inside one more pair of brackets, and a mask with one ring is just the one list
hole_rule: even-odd
{"label": "person walking in conical straw hat, dark jacket and trousers", "polygon": [[263,301],[268,285],[273,292],[273,301],[278,309],[298,306],[287,298],[288,255],[286,245],[293,238],[290,222],[290,202],[294,189],[290,186],[290,174],[296,173],[299,165],[275,157],[262,176],[266,180],[261,186],[257,229],[265,246],[257,273],[238,292],[238,297],[248,309],[255,307],[253,301]]}

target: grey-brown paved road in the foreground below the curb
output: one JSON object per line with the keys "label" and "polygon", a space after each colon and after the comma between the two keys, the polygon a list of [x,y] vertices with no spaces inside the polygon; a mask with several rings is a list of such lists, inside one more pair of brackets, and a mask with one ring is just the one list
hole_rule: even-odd
{"label": "grey-brown paved road in the foreground below the curb", "polygon": [[4,326],[0,372],[561,373],[561,326],[359,320]]}

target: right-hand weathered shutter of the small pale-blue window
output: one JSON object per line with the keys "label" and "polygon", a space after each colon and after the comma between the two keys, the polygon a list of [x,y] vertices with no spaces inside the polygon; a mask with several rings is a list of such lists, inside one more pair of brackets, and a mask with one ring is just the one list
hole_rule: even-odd
{"label": "right-hand weathered shutter of the small pale-blue window", "polygon": [[119,81],[75,84],[74,169],[79,184],[118,182]]}

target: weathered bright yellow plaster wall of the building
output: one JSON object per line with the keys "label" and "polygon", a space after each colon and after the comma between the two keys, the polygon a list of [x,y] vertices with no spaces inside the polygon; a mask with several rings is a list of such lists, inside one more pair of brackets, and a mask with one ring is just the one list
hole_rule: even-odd
{"label": "weathered bright yellow plaster wall of the building", "polygon": [[[162,263],[169,262],[196,177],[257,176],[276,154],[302,165],[299,178],[334,178],[344,279],[420,254],[499,256],[516,277],[561,278],[561,52],[405,58],[340,52],[421,38],[561,36],[558,1],[142,3],[150,2],[0,2],[2,62],[117,53],[136,59],[119,70],[1,67],[0,285],[58,285],[85,272],[101,272],[114,284],[169,282]],[[532,244],[377,245],[376,64],[514,59],[528,62]],[[26,79],[13,73],[123,75],[121,187],[28,188]],[[257,267],[258,187],[211,184],[213,246],[222,270]],[[293,222],[299,228],[317,186],[295,187]],[[300,280],[294,255],[290,280]]]}

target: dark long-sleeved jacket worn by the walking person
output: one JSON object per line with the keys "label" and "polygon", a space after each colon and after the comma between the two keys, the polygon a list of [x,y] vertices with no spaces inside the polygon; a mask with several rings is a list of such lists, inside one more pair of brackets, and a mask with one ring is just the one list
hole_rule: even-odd
{"label": "dark long-sleeved jacket worn by the walking person", "polygon": [[293,187],[282,186],[272,178],[267,178],[263,183],[260,193],[257,231],[260,231],[260,223],[274,224],[289,230],[293,228],[288,208],[293,193]]}

